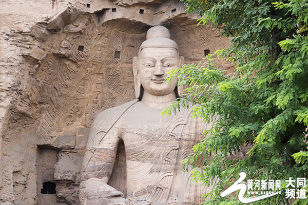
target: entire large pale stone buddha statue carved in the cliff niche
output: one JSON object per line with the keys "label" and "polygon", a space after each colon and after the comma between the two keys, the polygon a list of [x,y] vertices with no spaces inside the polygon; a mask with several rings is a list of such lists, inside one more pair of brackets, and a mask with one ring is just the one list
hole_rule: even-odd
{"label": "entire large pale stone buddha statue carved in the cliff niche", "polygon": [[[167,28],[152,27],[146,38],[133,58],[137,99],[101,112],[93,122],[83,160],[81,204],[199,204],[208,193],[191,181],[181,164],[207,125],[191,118],[188,109],[172,116],[161,114],[181,96],[176,79],[170,83],[165,79],[169,70],[183,65],[184,58]],[[108,185],[122,140],[126,196]]]}

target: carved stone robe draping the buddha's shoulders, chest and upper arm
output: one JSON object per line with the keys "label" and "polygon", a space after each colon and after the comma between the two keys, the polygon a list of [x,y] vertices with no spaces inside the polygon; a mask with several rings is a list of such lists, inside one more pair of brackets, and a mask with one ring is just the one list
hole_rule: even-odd
{"label": "carved stone robe draping the buddha's shoulders, chest and upper arm", "polygon": [[199,204],[209,190],[191,182],[181,161],[203,137],[206,125],[191,118],[187,109],[172,116],[161,112],[131,101],[100,113],[89,135],[82,180],[108,180],[119,140],[123,140],[127,198],[145,199],[152,205]]}

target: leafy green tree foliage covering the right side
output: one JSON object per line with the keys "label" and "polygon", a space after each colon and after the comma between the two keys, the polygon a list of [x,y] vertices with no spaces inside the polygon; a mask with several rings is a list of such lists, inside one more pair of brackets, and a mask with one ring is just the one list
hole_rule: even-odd
{"label": "leafy green tree foliage covering the right side", "polygon": [[[186,169],[201,162],[195,180],[215,182],[204,203],[241,204],[220,196],[240,172],[256,179],[308,178],[308,1],[182,1],[188,12],[202,15],[200,23],[232,37],[230,47],[216,54],[237,63],[235,73],[225,75],[209,54],[205,64],[170,72],[170,79],[178,75],[179,84],[189,87],[164,112],[188,108],[191,101],[199,104],[194,116],[214,121],[209,137],[184,161]],[[233,157],[245,146],[253,146],[249,156]],[[285,189],[282,183],[281,195],[254,204],[287,204]]]}

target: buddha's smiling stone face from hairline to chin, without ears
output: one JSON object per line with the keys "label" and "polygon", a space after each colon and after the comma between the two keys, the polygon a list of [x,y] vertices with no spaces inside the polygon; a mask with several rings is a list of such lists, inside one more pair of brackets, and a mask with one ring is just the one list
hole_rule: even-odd
{"label": "buddha's smiling stone face from hairline to chin, without ears", "polygon": [[139,79],[142,87],[151,95],[168,95],[176,88],[177,79],[165,81],[167,72],[179,67],[179,55],[175,48],[144,48],[138,60]]}

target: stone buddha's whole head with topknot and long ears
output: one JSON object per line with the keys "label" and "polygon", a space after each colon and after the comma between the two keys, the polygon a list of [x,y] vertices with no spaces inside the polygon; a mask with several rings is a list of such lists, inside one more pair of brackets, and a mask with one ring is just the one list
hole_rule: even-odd
{"label": "stone buddha's whole head with topknot and long ears", "polygon": [[170,39],[166,27],[155,26],[146,33],[146,40],[141,44],[138,57],[133,58],[133,73],[136,98],[140,98],[141,88],[156,96],[168,95],[176,91],[181,97],[183,89],[178,86],[177,79],[170,83],[165,81],[169,70],[174,70],[184,64],[184,58],[179,57],[178,45]]}

